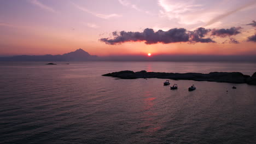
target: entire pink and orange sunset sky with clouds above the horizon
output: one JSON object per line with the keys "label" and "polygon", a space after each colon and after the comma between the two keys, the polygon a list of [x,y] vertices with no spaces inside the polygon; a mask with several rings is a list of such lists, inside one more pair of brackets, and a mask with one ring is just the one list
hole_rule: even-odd
{"label": "entire pink and orange sunset sky with clouds above the horizon", "polygon": [[255,0],[0,0],[0,56],[256,55]]}

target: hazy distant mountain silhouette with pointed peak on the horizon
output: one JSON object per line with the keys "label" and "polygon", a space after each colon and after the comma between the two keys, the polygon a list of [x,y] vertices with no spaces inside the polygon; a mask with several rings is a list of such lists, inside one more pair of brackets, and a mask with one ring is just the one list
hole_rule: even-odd
{"label": "hazy distant mountain silhouette with pointed peak on the horizon", "polygon": [[91,56],[83,49],[78,49],[73,52],[65,53],[63,55],[42,55],[42,56],[13,56],[0,57],[0,61],[95,61],[97,56]]}

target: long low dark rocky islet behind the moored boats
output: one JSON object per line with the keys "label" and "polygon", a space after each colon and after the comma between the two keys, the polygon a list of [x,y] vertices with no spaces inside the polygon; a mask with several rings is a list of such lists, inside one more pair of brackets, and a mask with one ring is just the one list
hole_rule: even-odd
{"label": "long low dark rocky islet behind the moored boats", "polygon": [[118,77],[120,79],[138,79],[138,78],[158,78],[158,79],[172,79],[172,80],[194,80],[194,81],[216,81],[229,83],[248,83],[249,85],[256,85],[256,72],[252,75],[243,75],[239,72],[212,72],[209,74],[201,73],[156,73],[142,71],[124,70],[102,76]]}

